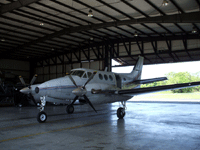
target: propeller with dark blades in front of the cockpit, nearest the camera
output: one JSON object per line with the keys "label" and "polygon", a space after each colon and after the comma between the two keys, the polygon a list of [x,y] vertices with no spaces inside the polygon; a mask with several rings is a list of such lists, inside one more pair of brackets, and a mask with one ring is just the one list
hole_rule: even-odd
{"label": "propeller with dark blades in front of the cockpit, nearest the camera", "polygon": [[75,82],[74,79],[72,78],[72,76],[69,75],[69,79],[70,79],[70,80],[72,81],[72,83],[77,87],[76,89],[74,89],[74,90],[72,91],[72,93],[73,93],[74,95],[76,95],[76,96],[75,96],[73,102],[71,103],[71,105],[73,105],[73,104],[75,103],[75,101],[76,101],[80,96],[83,96],[84,99],[86,100],[86,102],[92,107],[92,109],[93,109],[95,112],[97,112],[96,109],[94,108],[94,106],[92,105],[92,103],[90,102],[90,100],[88,99],[88,97],[86,96],[87,90],[86,90],[86,88],[85,88],[85,86],[94,78],[94,76],[95,76],[96,73],[97,73],[96,71],[93,72],[93,74],[90,76],[90,78],[89,78],[89,79],[85,82],[85,84],[84,84],[83,86],[81,86],[81,87],[78,87],[77,84],[76,84],[76,82]]}

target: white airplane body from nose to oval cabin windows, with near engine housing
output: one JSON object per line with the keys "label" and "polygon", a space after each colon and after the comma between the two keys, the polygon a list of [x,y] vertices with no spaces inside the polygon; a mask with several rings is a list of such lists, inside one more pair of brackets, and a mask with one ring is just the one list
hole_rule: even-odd
{"label": "white airplane body from nose to oval cabin windows, with near engine housing", "polygon": [[[76,82],[78,87],[83,86],[88,80],[88,74],[92,74],[96,70],[92,69],[73,69],[72,71],[83,71],[81,76],[73,75],[72,78]],[[127,78],[126,82],[130,82]],[[73,100],[75,98],[73,90],[77,87],[70,80],[69,76],[49,80],[38,86],[38,95],[46,96],[50,98]],[[132,96],[120,96],[115,94],[92,94],[94,90],[118,90],[116,75],[112,72],[97,71],[94,78],[85,86],[87,90],[87,97],[93,104],[112,103],[116,101],[126,101]],[[80,97],[81,98],[81,97]],[[47,100],[48,101],[48,100]]]}

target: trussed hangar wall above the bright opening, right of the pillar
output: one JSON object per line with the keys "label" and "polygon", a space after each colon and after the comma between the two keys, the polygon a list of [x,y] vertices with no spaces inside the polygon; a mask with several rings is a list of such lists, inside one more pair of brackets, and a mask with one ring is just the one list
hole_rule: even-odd
{"label": "trussed hangar wall above the bright opening, right of the pillar", "polygon": [[[123,58],[124,62],[128,62],[128,64],[131,65],[135,63],[134,59],[139,55],[146,56],[145,58],[150,59],[152,61],[151,63],[155,64],[191,61],[191,59],[198,60],[199,51],[197,51],[197,49],[200,48],[200,39],[152,41],[152,43],[144,42],[143,45],[141,41],[139,41],[138,44],[136,42],[120,43],[119,56],[114,55],[112,58]],[[126,45],[126,48],[124,45]],[[117,45],[115,44],[114,47],[116,49]],[[130,53],[129,49],[131,49]],[[134,57],[134,59],[130,56]],[[165,62],[160,58],[165,60]],[[149,63],[147,59],[144,59],[144,61],[145,64]],[[128,64],[123,64],[122,62],[122,65]]]}

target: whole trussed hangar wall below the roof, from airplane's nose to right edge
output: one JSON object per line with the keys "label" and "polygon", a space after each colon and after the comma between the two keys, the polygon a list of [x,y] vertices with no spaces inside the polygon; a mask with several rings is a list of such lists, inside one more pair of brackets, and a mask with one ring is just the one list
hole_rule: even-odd
{"label": "whole trussed hangar wall below the roof, from airplane's nose to right edge", "polygon": [[[193,59],[195,57],[198,59],[198,51],[193,48],[200,48],[199,39],[112,43],[42,60],[37,62],[35,73],[38,74],[37,82],[41,83],[65,76],[74,68],[104,70],[105,66],[111,66],[112,58],[122,58],[122,65],[135,64],[139,55],[145,57],[145,64],[148,64],[149,60],[154,64],[191,61],[191,56]],[[124,64],[124,62],[128,63]]]}

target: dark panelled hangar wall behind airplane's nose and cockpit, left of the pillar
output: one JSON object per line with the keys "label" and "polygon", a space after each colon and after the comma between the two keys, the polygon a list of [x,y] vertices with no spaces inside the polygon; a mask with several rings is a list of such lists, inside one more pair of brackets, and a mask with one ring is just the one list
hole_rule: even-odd
{"label": "dark panelled hangar wall behind airplane's nose and cockpit, left of the pillar", "polygon": [[[104,70],[104,47],[91,49],[80,49],[78,52],[69,52],[67,54],[51,57],[37,62],[35,73],[38,75],[37,83],[42,83],[50,79],[63,77],[70,73],[71,69],[89,68],[95,70]],[[101,57],[97,59],[97,57]],[[55,52],[56,56],[56,52]]]}

